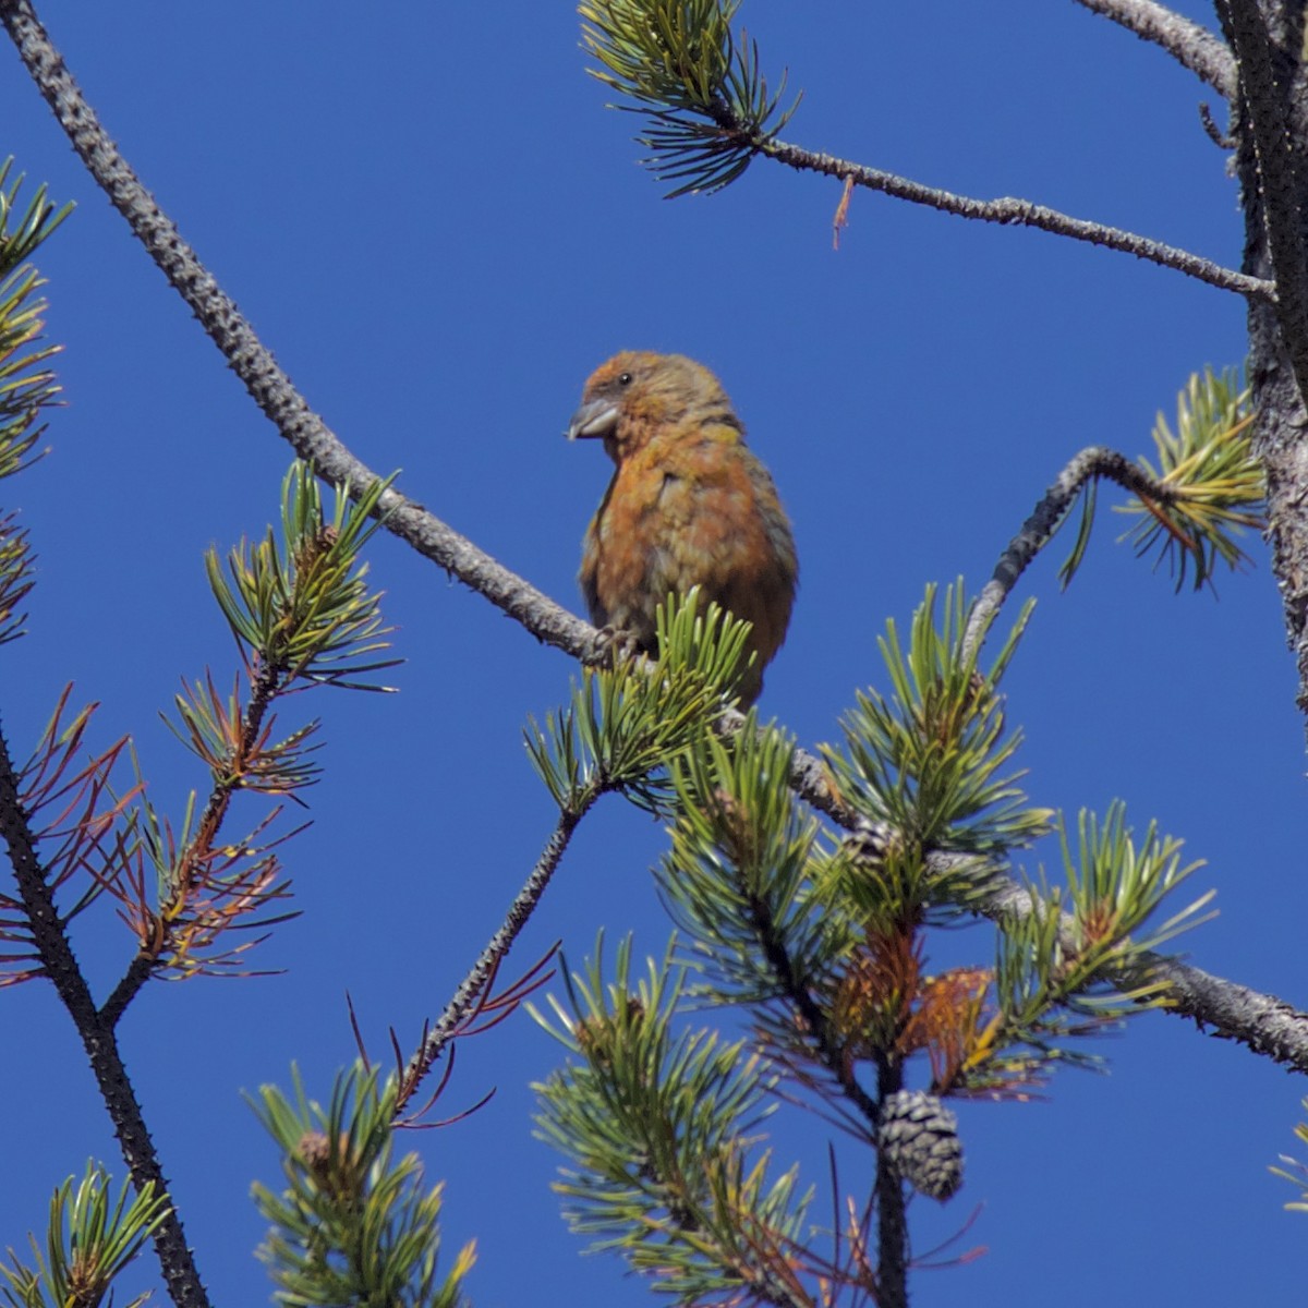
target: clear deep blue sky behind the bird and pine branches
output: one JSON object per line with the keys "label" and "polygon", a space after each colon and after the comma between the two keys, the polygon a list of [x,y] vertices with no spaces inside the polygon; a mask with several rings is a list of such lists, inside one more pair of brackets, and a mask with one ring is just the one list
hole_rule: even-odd
{"label": "clear deep blue sky behind the bird and pine branches", "polygon": [[[1201,21],[1205,7],[1181,5]],[[608,477],[561,439],[586,374],[620,348],[688,353],[723,379],[773,470],[802,560],[763,709],[816,744],[854,688],[884,684],[876,637],[930,581],[980,586],[1079,449],[1150,451],[1155,412],[1205,364],[1244,354],[1233,296],[1125,255],[855,195],[838,251],[835,182],[755,164],[671,203],[637,166],[633,118],[585,76],[569,4],[41,5],[148,187],[353,451],[504,564],[579,608],[581,534]],[[980,196],[1020,195],[1236,266],[1215,99],[1167,56],[1071,3],[781,5],[746,0],[764,68],[804,90],[787,139]],[[42,258],[68,405],[18,483],[41,555],[31,634],[3,651],[0,712],[26,753],[68,680],[98,742],[137,743],[156,804],[205,785],[158,721],[179,678],[230,676],[204,581],[211,544],[256,535],[290,454],[82,174],[17,59],[0,73],[0,153],[76,215]],[[1103,506],[1112,501],[1105,494]],[[1220,976],[1303,1002],[1303,722],[1261,543],[1220,599],[1175,595],[1114,544],[1105,513],[1075,585],[1058,551],[1023,583],[1033,625],[1008,681],[1028,790],[1074,815],[1114,798],[1207,859],[1220,917],[1186,939]],[[462,977],[551,829],[521,746],[574,668],[400,544],[373,577],[398,624],[400,695],[322,692],[314,827],[286,852],[302,917],[247,981],[156,984],[122,1033],[216,1301],[269,1292],[250,1182],[277,1160],[241,1097],[326,1093],[353,1056],[415,1040]],[[668,926],[647,869],[663,837],[612,799],[587,820],[521,942]],[[1036,852],[1027,865],[1053,850]],[[103,993],[131,942],[89,914],[78,956]],[[988,961],[989,927],[940,956]],[[89,1155],[120,1172],[71,1023],[41,984],[0,994],[0,1244],[43,1220]],[[1103,1041],[1110,1074],[1045,1101],[964,1104],[968,1179],[914,1206],[920,1249],[974,1222],[965,1267],[920,1305],[1300,1301],[1308,1227],[1267,1175],[1294,1148],[1301,1082],[1175,1018]],[[531,1080],[556,1046],[525,1016],[467,1042],[445,1108],[413,1139],[446,1185],[450,1250],[479,1241],[479,1304],[647,1300],[579,1257],[531,1137]],[[821,1182],[816,1118],[785,1127]],[[846,1167],[853,1167],[853,1162]],[[870,1167],[870,1162],[866,1164]],[[1220,1250],[1220,1252],[1219,1252]],[[148,1279],[149,1264],[143,1277]],[[124,1284],[129,1291],[131,1284]]]}

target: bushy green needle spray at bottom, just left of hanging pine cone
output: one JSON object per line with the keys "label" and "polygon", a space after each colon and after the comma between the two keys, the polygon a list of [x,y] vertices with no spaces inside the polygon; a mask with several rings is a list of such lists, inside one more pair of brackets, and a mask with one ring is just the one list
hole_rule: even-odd
{"label": "bushy green needle spray at bottom, just left of hanging pine cone", "polygon": [[600,939],[566,1003],[551,997],[555,1019],[532,1010],[574,1056],[534,1087],[538,1134],[569,1160],[555,1189],[593,1252],[621,1253],[679,1304],[791,1303],[778,1295],[811,1192],[759,1148],[777,1075],[743,1041],[672,1029],[685,977],[670,947],[637,978],[628,938],[606,982]]}

